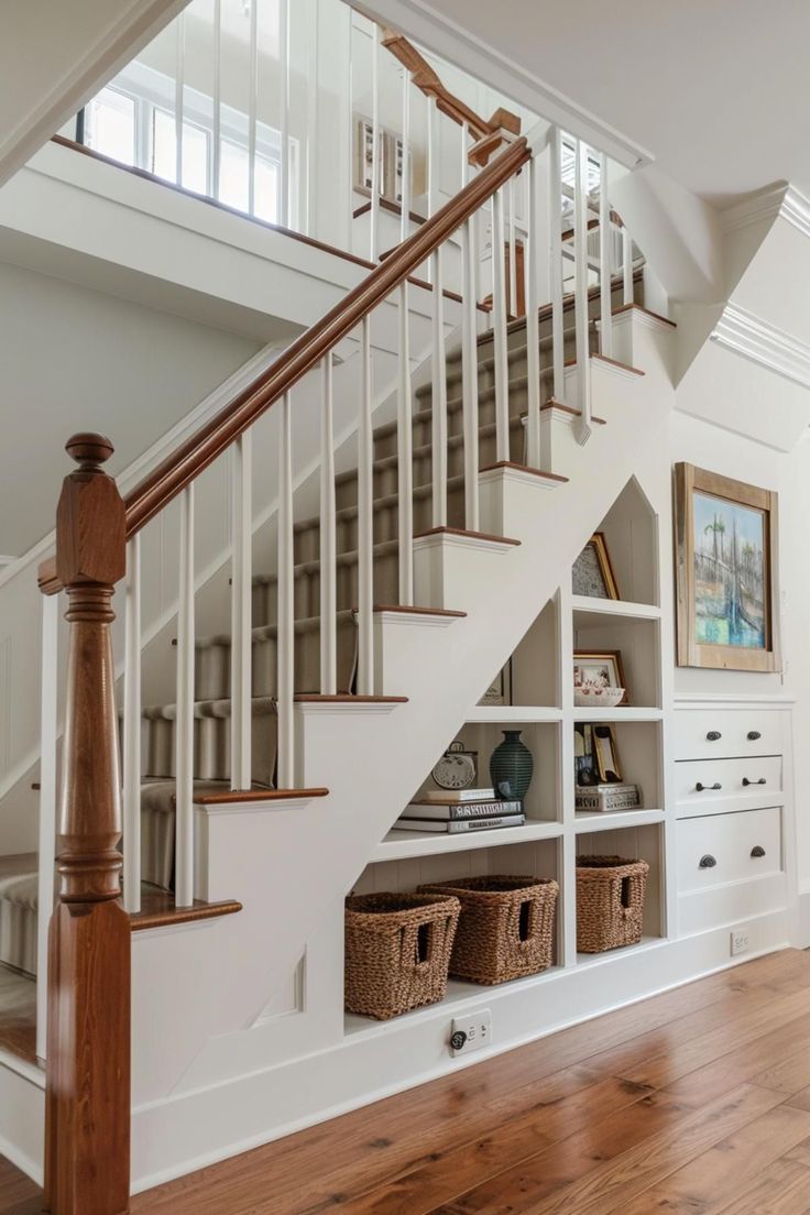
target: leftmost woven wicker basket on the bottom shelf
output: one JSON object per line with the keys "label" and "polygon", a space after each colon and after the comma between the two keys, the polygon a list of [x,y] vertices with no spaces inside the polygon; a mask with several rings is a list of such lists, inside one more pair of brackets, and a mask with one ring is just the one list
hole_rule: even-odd
{"label": "leftmost woven wicker basket on the bottom shelf", "polygon": [[346,899],[346,1008],[387,1021],[444,999],[458,899],[357,894]]}

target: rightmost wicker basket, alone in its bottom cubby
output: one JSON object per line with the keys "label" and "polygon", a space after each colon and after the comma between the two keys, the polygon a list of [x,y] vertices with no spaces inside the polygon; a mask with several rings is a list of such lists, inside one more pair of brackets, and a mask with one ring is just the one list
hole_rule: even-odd
{"label": "rightmost wicker basket, alone in its bottom cubby", "polygon": [[641,940],[646,860],[577,858],[577,949],[602,954]]}

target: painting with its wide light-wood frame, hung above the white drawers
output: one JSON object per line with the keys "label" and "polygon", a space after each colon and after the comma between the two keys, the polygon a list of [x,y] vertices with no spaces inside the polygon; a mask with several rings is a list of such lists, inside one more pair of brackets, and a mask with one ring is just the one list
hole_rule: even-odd
{"label": "painting with its wide light-wood frame, hung above the white drawers", "polygon": [[778,495],[675,465],[678,665],[778,671]]}

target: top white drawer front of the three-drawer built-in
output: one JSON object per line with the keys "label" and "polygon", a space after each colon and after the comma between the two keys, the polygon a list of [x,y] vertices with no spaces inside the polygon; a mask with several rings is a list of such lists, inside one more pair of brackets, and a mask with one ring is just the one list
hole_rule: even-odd
{"label": "top white drawer front of the three-drawer built-in", "polygon": [[778,710],[687,710],[675,712],[676,759],[723,759],[727,756],[782,753]]}

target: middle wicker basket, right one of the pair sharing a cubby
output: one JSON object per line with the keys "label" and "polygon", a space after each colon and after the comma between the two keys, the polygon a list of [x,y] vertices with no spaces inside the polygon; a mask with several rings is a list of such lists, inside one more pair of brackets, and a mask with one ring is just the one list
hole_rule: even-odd
{"label": "middle wicker basket, right one of the pair sharing a cubby", "polygon": [[506,983],[551,965],[560,887],[540,877],[461,877],[420,891],[460,900],[451,974],[472,983]]}

